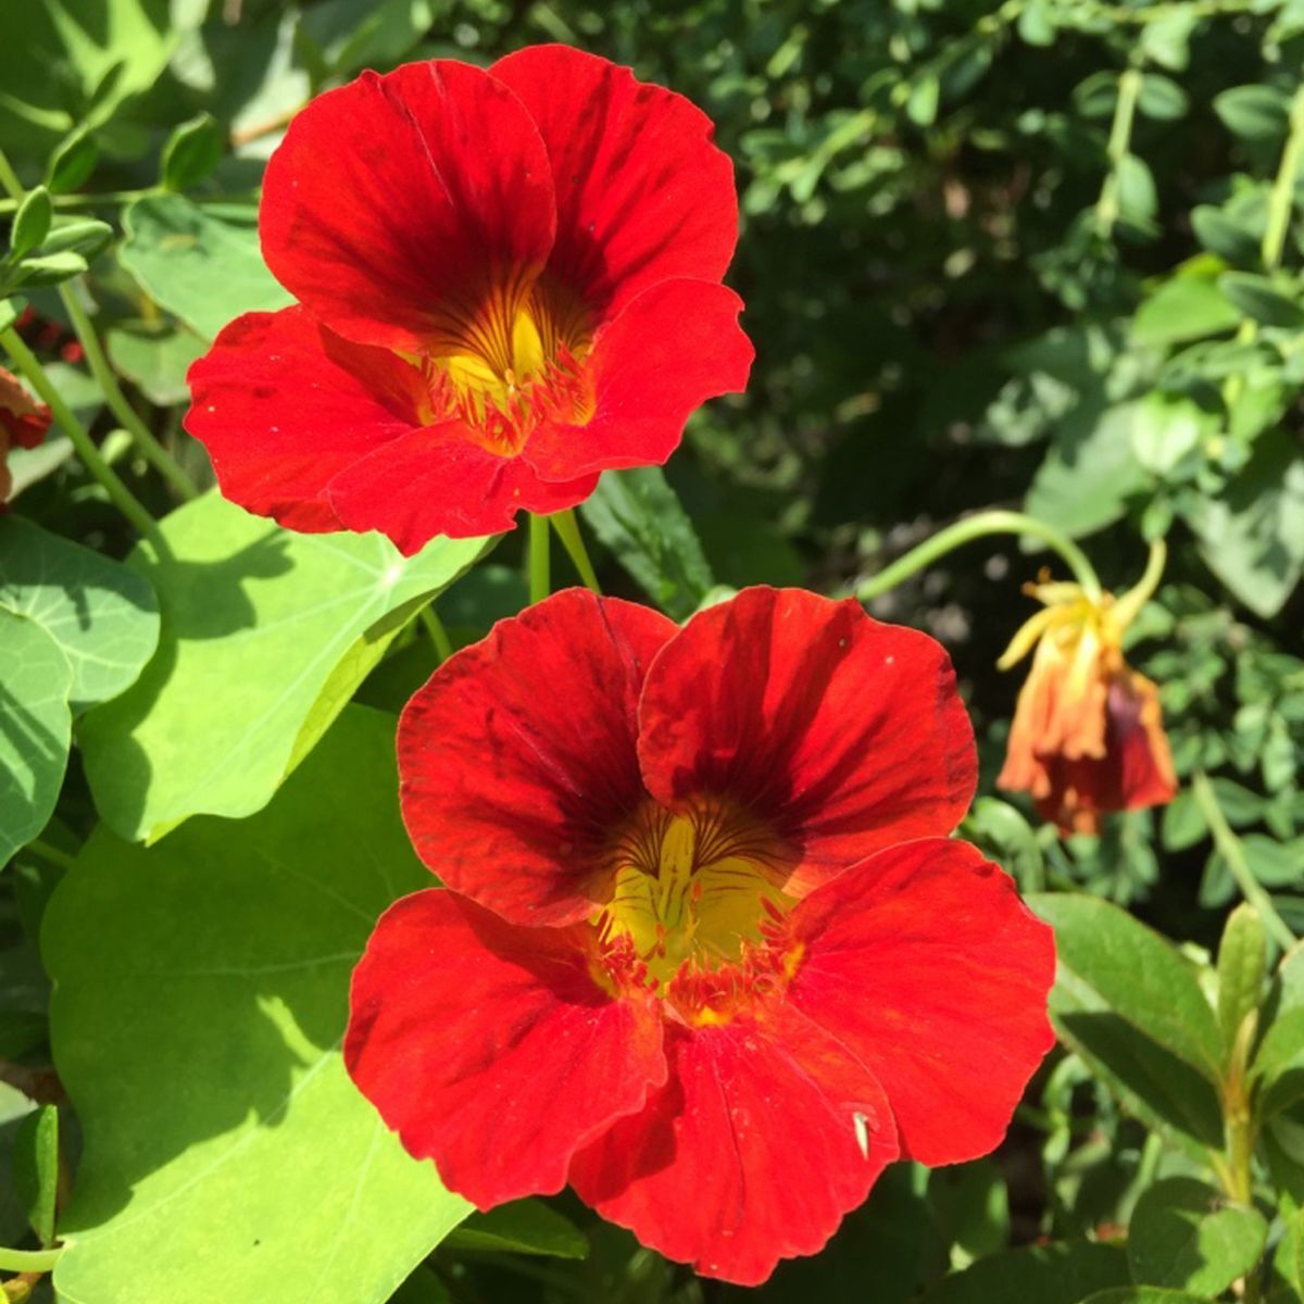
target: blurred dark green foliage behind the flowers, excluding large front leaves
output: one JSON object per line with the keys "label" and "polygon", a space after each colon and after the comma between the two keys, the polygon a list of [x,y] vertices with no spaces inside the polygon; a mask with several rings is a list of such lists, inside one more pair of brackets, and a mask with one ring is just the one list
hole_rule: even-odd
{"label": "blurred dark green foliage behind the flowers, excluding large front leaves", "polygon": [[[1060,841],[992,802],[970,832],[1025,885],[1108,897],[1205,948],[1239,846],[1304,931],[1304,0],[8,0],[0,38],[0,146],[55,214],[0,265],[4,292],[31,304],[46,357],[64,351],[60,393],[158,514],[168,486],[112,433],[55,280],[89,265],[76,293],[115,372],[203,480],[180,432],[185,366],[235,312],[284,301],[257,254],[257,188],[313,94],[364,68],[559,40],[694,99],[737,166],[730,280],[758,360],[664,479],[609,482],[587,507],[604,584],[642,584],[677,615],[713,584],[854,592],[936,527],[1007,506],[1082,540],[1121,588],[1166,536],[1129,655],[1217,814],[1184,784],[1099,837]],[[111,230],[73,232],[89,218]],[[121,554],[129,533],[68,451],[14,454],[21,511]],[[441,600],[459,642],[523,601],[516,546]],[[995,661],[1045,561],[988,540],[872,605],[949,647],[988,789],[1017,691]],[[404,668],[406,648],[364,700],[403,700],[428,666]],[[70,825],[90,820],[78,782]],[[1214,837],[1223,820],[1239,842]],[[42,871],[25,872],[16,910],[40,898]],[[1037,1093],[998,1161],[893,1172],[831,1253],[762,1297],[867,1297],[870,1279],[891,1304],[1009,1241],[1108,1241],[1155,1176],[1146,1132],[1076,1058]],[[398,1297],[735,1295],[584,1227],[574,1265],[450,1241]],[[1089,1251],[1016,1251],[998,1287],[970,1273],[935,1297],[1072,1304],[1119,1284],[1123,1252]]]}

